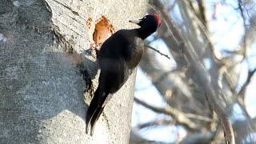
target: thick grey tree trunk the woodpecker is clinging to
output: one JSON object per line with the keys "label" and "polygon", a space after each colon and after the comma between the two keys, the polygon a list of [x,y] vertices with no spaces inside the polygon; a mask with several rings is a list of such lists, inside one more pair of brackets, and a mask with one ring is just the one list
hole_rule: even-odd
{"label": "thick grey tree trunk the woodpecker is clinging to", "polygon": [[0,143],[128,143],[135,73],[106,105],[90,137],[78,65],[84,57],[94,78],[97,62],[82,52],[94,42],[102,15],[119,30],[145,13],[146,1],[135,0],[1,1]]}

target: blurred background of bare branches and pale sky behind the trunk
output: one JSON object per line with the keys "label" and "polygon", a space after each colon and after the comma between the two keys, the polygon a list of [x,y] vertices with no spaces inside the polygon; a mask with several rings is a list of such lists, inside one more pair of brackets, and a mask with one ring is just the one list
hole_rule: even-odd
{"label": "blurred background of bare branches and pale sky behind the trunk", "polygon": [[130,143],[223,143],[232,129],[236,143],[256,142],[255,0],[152,0],[149,7],[162,26],[146,45],[170,59],[150,49],[143,55]]}

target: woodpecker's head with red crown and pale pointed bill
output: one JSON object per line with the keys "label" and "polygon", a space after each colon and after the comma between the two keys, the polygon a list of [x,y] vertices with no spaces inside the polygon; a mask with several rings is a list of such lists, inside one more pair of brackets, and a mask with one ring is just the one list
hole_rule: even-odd
{"label": "woodpecker's head with red crown and pale pointed bill", "polygon": [[161,25],[161,18],[158,14],[149,14],[139,20],[129,22],[135,23],[141,27],[151,27],[157,30],[158,26]]}

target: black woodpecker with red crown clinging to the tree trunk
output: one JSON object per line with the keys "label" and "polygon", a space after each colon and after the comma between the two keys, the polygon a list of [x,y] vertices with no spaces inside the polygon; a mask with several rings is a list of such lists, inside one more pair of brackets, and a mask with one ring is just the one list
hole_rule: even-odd
{"label": "black woodpecker with red crown clinging to the tree trunk", "polygon": [[98,52],[100,76],[98,88],[86,114],[86,134],[90,123],[90,135],[94,134],[95,122],[102,114],[112,94],[127,81],[142,58],[143,40],[153,34],[161,24],[157,14],[149,14],[138,21],[129,21],[140,26],[138,29],[118,30],[103,42]]}

